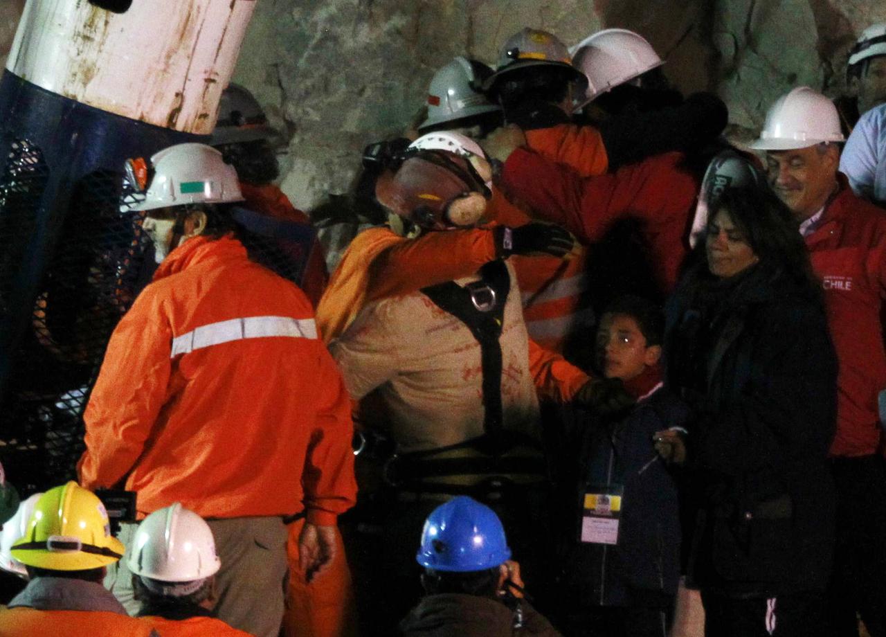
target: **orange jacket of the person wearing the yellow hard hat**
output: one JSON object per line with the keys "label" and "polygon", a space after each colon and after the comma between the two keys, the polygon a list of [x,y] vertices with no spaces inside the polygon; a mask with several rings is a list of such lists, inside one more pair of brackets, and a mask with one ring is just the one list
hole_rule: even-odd
{"label": "orange jacket of the person wearing the yellow hard hat", "polygon": [[0,610],[3,637],[164,637],[151,625],[109,610],[37,610],[25,606]]}

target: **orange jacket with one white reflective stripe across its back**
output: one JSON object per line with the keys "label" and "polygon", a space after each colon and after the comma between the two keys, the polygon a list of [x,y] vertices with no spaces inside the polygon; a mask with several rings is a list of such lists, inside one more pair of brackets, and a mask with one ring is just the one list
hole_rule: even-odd
{"label": "orange jacket with one white reflective stripe across its back", "polygon": [[351,403],[295,284],[227,236],[169,254],[114,330],[84,414],[81,484],[140,517],[335,524],[354,504]]}

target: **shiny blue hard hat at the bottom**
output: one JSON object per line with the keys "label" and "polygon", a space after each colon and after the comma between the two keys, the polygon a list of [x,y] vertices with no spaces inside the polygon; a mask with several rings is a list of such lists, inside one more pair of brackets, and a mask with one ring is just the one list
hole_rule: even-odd
{"label": "shiny blue hard hat at the bottom", "polygon": [[435,571],[485,571],[510,559],[504,528],[493,509],[460,495],[424,521],[416,560]]}

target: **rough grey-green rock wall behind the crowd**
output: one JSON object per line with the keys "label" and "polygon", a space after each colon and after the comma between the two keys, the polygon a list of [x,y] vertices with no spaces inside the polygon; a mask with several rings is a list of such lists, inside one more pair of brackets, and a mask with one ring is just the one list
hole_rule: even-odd
{"label": "rough grey-green rock wall behind the crowd", "polygon": [[[365,144],[408,128],[436,68],[463,53],[494,64],[525,26],[568,44],[602,27],[645,35],[680,89],[726,99],[742,139],[793,86],[838,95],[856,35],[886,20],[882,0],[257,2],[234,79],[286,131],[281,184],[307,210],[353,186]],[[0,3],[0,59],[23,4]]]}

